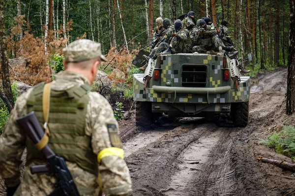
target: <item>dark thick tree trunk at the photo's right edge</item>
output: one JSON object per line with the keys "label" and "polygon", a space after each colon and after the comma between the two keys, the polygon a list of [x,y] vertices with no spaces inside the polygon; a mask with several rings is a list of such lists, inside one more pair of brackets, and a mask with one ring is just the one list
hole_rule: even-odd
{"label": "dark thick tree trunk at the photo's right edge", "polygon": [[292,115],[295,112],[295,0],[290,0],[289,40],[286,114]]}

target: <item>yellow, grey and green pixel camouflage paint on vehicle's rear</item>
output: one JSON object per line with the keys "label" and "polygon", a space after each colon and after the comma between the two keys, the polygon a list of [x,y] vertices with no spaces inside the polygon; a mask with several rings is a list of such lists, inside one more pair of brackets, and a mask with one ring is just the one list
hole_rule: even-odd
{"label": "yellow, grey and green pixel camouflage paint on vehicle's rear", "polygon": [[[250,95],[250,77],[240,76],[241,82],[236,86],[234,81],[224,79],[224,71],[229,70],[229,59],[226,60],[224,69],[224,56],[207,55],[207,54],[171,54],[161,55],[155,60],[155,70],[160,72],[159,79],[148,82],[146,91],[144,91],[144,74],[133,74],[133,99],[136,101],[151,101],[154,103],[192,103],[207,105],[208,104],[225,104],[232,102],[245,102],[249,100]],[[230,86],[227,93],[221,94],[183,94],[183,93],[161,93],[156,92],[152,86],[182,87],[182,68],[183,66],[206,66],[207,77],[204,88],[218,88]],[[198,87],[202,88],[202,87]],[[202,106],[204,108],[204,106]],[[219,108],[220,109],[220,108]],[[212,107],[211,112],[220,112],[216,107]],[[205,109],[204,109],[205,110]]]}

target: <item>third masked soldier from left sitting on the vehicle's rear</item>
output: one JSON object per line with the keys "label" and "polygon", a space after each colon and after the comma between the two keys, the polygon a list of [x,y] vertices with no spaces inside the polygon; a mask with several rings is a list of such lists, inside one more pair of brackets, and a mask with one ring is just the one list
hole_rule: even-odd
{"label": "third masked soldier from left sitting on the vehicle's rear", "polygon": [[162,54],[176,54],[186,51],[186,41],[189,37],[189,31],[186,27],[182,27],[181,21],[177,19],[174,23],[176,33],[172,34],[172,40],[169,48],[162,52]]}

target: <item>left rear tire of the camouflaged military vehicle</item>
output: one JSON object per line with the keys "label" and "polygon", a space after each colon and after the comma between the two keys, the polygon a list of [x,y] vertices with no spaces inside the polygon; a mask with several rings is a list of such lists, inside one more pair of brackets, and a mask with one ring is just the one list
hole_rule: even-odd
{"label": "left rear tire of the camouflaged military vehicle", "polygon": [[158,113],[151,112],[151,102],[136,101],[135,123],[137,126],[148,127],[158,120],[159,117],[160,115]]}

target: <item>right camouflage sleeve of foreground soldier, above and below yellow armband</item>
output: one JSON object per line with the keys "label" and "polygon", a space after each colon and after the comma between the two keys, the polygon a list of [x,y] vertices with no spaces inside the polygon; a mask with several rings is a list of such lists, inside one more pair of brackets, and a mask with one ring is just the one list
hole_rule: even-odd
{"label": "right camouflage sleeve of foreground soldier, above and below yellow armband", "polygon": [[[97,93],[89,93],[86,134],[91,134],[93,152],[119,149],[118,123],[108,101]],[[119,149],[122,150],[122,149]],[[99,157],[99,155],[98,155]],[[131,179],[127,165],[115,154],[102,156],[98,166],[104,191],[107,195],[126,195],[131,192]]]}

